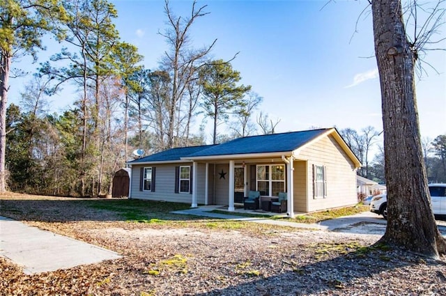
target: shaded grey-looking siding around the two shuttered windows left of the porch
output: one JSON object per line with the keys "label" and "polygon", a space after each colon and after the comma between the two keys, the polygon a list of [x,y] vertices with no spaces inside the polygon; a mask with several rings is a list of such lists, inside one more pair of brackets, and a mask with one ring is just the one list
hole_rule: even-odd
{"label": "shaded grey-looking siding around the two shuttered windows left of the porch", "polygon": [[[192,166],[181,164],[181,166]],[[139,191],[141,182],[141,167],[156,167],[155,192]],[[132,198],[149,199],[152,201],[173,201],[176,203],[192,203],[192,194],[175,193],[175,166],[180,164],[145,164],[132,165]]]}

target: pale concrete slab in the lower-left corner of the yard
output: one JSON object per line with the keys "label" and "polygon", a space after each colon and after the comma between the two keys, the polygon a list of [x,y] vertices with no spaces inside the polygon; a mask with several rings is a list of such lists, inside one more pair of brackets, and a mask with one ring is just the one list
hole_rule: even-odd
{"label": "pale concrete slab in the lower-left corner of the yard", "polygon": [[121,258],[113,251],[1,216],[0,256],[21,265],[25,274]]}

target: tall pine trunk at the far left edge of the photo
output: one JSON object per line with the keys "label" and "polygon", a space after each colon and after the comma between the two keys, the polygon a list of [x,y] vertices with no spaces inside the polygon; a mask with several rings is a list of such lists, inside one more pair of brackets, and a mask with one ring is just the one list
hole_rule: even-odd
{"label": "tall pine trunk at the far left edge of the photo", "polygon": [[1,51],[0,57],[0,192],[6,192],[6,102],[8,102],[9,70],[12,57]]}

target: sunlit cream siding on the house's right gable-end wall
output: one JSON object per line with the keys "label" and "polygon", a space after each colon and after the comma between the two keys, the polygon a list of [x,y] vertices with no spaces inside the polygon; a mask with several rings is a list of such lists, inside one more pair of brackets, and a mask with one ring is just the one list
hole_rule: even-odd
{"label": "sunlit cream siding on the house's right gable-end wall", "polygon": [[[307,162],[307,212],[339,208],[357,203],[356,170],[351,159],[330,135],[299,153]],[[313,165],[325,166],[327,194],[313,197]]]}

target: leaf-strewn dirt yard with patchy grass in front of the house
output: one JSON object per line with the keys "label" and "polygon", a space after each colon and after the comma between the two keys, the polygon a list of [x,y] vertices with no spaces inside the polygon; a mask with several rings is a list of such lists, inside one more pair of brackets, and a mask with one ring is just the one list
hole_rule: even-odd
{"label": "leaf-strewn dirt yard with patchy grass in front of the house", "polygon": [[171,206],[0,196],[0,215],[123,255],[32,276],[0,258],[0,295],[446,295],[445,257],[376,246],[377,235],[187,217]]}

